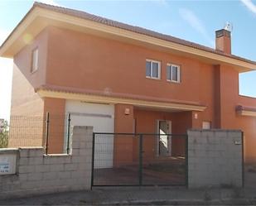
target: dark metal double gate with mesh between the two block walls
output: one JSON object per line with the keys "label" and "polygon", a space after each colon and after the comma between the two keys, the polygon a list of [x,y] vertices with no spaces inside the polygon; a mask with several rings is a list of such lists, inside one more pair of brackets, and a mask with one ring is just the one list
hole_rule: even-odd
{"label": "dark metal double gate with mesh between the two block walls", "polygon": [[94,132],[91,186],[186,186],[187,135]]}

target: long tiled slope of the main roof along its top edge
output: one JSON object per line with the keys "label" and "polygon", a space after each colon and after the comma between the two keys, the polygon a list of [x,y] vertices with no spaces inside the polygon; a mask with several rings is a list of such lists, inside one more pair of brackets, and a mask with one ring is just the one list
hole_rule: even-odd
{"label": "long tiled slope of the main roof along its top edge", "polygon": [[99,16],[96,16],[96,15],[93,15],[93,14],[89,14],[87,12],[81,12],[81,11],[78,11],[78,10],[75,10],[75,9],[70,9],[70,8],[65,8],[65,7],[52,6],[52,5],[41,3],[41,2],[35,2],[33,7],[41,7],[41,8],[49,9],[49,10],[54,11],[54,12],[60,12],[60,13],[64,13],[64,14],[67,14],[67,15],[70,15],[70,16],[80,17],[80,18],[90,20],[90,21],[93,21],[93,22],[99,22],[99,23],[102,23],[104,25],[114,26],[114,27],[124,29],[124,30],[127,30],[127,31],[133,31],[133,32],[136,32],[136,33],[139,33],[139,34],[152,36],[152,37],[155,37],[155,38],[158,38],[158,39],[161,39],[161,40],[171,41],[171,42],[174,42],[174,43],[177,43],[177,44],[180,44],[180,45],[184,45],[184,46],[190,46],[190,47],[193,47],[193,48],[196,48],[196,49],[199,49],[199,50],[209,51],[209,52],[212,52],[212,53],[215,53],[215,54],[218,54],[218,55],[225,55],[227,57],[231,57],[231,58],[234,58],[236,60],[242,60],[242,61],[246,61],[246,62],[249,62],[251,64],[256,65],[256,62],[253,61],[253,60],[247,60],[247,59],[244,59],[244,58],[236,56],[236,55],[228,55],[228,54],[225,54],[224,52],[222,52],[220,50],[215,50],[215,49],[212,49],[212,48],[207,47],[207,46],[201,46],[201,45],[193,43],[191,41],[181,40],[181,39],[176,38],[174,36],[169,36],[169,35],[165,35],[165,34],[162,34],[162,33],[158,33],[156,31],[147,30],[147,29],[139,27],[139,26],[131,26],[131,25],[128,25],[128,24],[125,24],[125,23],[122,23],[122,22],[117,22],[117,21],[114,21],[114,20],[110,20],[108,18],[99,17]]}

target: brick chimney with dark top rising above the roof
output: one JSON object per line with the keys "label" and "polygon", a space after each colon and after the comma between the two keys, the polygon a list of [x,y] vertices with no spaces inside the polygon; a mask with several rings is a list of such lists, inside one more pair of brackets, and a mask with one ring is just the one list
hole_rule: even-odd
{"label": "brick chimney with dark top rising above the roof", "polygon": [[225,54],[231,54],[231,32],[225,29],[215,31],[215,50],[221,50]]}

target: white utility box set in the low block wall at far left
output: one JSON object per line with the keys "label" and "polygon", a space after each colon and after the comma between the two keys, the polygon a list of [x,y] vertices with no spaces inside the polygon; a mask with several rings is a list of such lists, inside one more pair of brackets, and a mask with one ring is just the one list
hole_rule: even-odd
{"label": "white utility box set in the low block wall at far left", "polygon": [[13,175],[16,173],[17,154],[0,153],[0,175]]}

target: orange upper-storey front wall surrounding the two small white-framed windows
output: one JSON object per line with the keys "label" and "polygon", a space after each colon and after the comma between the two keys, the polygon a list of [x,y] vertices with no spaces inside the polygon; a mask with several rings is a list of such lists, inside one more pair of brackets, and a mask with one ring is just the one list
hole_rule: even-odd
{"label": "orange upper-storey front wall surrounding the two small white-framed windows", "polygon": [[[48,30],[47,84],[213,105],[212,65],[80,32]],[[161,61],[161,80],[145,78],[146,59]],[[181,84],[167,82],[167,63],[181,65]]]}

